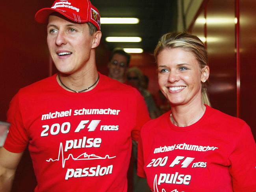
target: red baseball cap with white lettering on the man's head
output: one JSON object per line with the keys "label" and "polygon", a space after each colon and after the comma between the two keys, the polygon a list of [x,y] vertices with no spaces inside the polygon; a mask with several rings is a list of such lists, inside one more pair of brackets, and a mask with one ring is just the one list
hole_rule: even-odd
{"label": "red baseball cap with white lettering on the man's head", "polygon": [[49,15],[53,12],[58,12],[77,23],[91,22],[100,31],[100,12],[89,0],[56,0],[52,7],[37,11],[35,20],[47,23]]}

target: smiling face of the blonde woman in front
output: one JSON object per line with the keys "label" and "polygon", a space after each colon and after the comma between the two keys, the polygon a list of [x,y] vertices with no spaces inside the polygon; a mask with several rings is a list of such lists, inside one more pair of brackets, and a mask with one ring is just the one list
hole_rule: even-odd
{"label": "smiling face of the blonde woman in front", "polygon": [[208,79],[208,66],[201,69],[195,56],[182,48],[162,50],[157,63],[160,89],[172,106],[201,103],[201,81]]}

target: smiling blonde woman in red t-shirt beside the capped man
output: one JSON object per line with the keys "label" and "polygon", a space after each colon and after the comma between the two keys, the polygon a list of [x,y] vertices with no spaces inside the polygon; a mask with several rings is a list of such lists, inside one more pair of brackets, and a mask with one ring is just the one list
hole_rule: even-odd
{"label": "smiling blonde woman in red t-shirt beside the capped man", "polygon": [[167,33],[154,55],[171,111],[141,129],[138,175],[147,177],[154,192],[256,191],[250,127],[202,102],[210,74],[202,41],[189,33]]}

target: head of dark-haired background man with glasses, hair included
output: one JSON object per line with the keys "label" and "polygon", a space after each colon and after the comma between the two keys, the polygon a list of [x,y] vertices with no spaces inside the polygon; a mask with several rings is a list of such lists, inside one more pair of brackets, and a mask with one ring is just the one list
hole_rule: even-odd
{"label": "head of dark-haired background man with glasses, hair included", "polygon": [[111,79],[115,79],[121,83],[126,83],[126,70],[130,63],[130,54],[126,53],[122,49],[114,49],[109,57],[108,76]]}

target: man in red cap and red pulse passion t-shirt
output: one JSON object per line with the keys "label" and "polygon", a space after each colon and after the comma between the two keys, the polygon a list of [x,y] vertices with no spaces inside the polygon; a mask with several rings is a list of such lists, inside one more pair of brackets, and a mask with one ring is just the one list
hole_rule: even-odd
{"label": "man in red cap and red pulse passion t-shirt", "polygon": [[126,192],[132,139],[149,120],[134,88],[100,74],[100,13],[89,0],[56,0],[35,20],[59,73],[19,90],[0,149],[0,191],[7,192],[28,146],[35,192]]}

